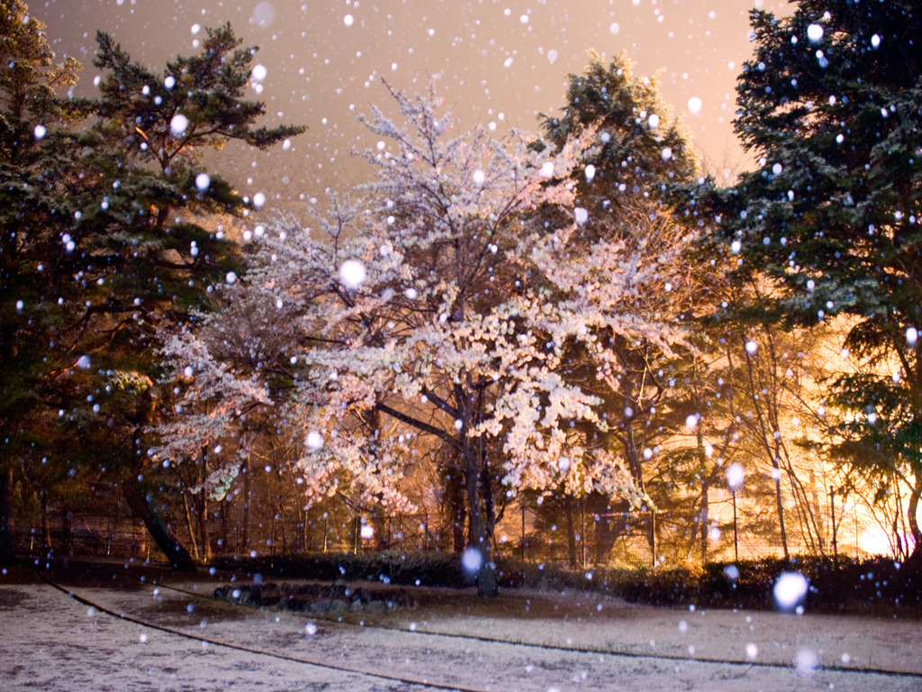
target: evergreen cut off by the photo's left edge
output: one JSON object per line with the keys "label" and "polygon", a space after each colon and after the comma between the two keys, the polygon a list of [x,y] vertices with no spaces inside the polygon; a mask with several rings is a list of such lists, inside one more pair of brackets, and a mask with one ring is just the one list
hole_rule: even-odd
{"label": "evergreen cut off by the photo's left edge", "polygon": [[44,315],[35,306],[69,222],[59,213],[69,200],[57,150],[89,112],[87,101],[57,95],[80,66],[54,62],[44,29],[24,3],[0,2],[0,561],[13,558],[14,471],[40,436],[23,412],[41,406]]}

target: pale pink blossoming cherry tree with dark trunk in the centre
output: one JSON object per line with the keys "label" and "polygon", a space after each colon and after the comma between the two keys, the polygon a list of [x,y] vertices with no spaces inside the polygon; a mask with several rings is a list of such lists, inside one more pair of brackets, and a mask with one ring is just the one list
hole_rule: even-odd
{"label": "pale pink blossoming cherry tree with dark trunk in the centre", "polygon": [[600,398],[564,371],[579,344],[614,376],[610,333],[671,352],[680,329],[636,309],[670,257],[581,232],[570,173],[597,146],[593,128],[560,148],[517,131],[452,136],[433,85],[390,93],[399,117],[372,107],[364,119],[380,138],[365,153],[372,183],[314,210],[313,228],[279,219],[256,229],[254,268],[226,291],[260,311],[278,347],[263,352],[256,330],[238,347],[249,364],[231,373],[221,350],[234,341],[219,334],[242,328],[234,309],[168,342],[173,372],[191,368],[195,380],[186,399],[211,403],[162,429],[156,453],[180,457],[247,406],[271,404],[304,432],[309,494],[345,478],[399,505],[415,440],[434,437],[460,460],[463,562],[492,595],[493,476],[507,496],[562,484],[640,501],[621,459],[586,432],[606,429]]}

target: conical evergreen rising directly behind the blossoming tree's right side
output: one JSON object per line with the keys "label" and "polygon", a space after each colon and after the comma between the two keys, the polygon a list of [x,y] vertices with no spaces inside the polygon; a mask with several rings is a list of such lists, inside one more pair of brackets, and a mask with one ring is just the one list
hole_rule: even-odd
{"label": "conical evergreen rising directly behind the blossoming tree's right side", "polygon": [[[618,242],[638,265],[655,262],[659,269],[656,280],[638,287],[631,304],[621,309],[689,320],[706,272],[692,275],[688,270],[683,253],[691,235],[676,222],[668,193],[696,180],[699,162],[691,133],[664,101],[656,76],[634,76],[626,54],[605,64],[590,53],[584,72],[570,76],[561,114],[543,116],[542,125],[558,149],[587,128],[598,133],[573,175],[575,204],[585,213],[582,251],[597,239]],[[687,413],[678,401],[684,388],[675,387],[676,368],[684,364],[629,332],[606,337],[600,341],[606,344],[604,352],[594,357],[573,353],[566,376],[584,382],[604,400],[609,432],[603,444],[623,459],[635,483],[652,490],[646,488],[646,467],[657,463],[653,450],[681,428]],[[679,418],[677,409],[683,411]],[[656,495],[666,499],[670,494]],[[593,504],[598,506],[598,500],[593,498]],[[601,509],[611,513],[604,503]]]}

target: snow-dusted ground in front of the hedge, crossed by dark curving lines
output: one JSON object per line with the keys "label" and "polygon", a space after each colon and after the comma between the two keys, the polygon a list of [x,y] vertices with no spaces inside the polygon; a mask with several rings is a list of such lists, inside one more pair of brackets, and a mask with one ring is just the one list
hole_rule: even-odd
{"label": "snow-dusted ground in front of the hedge, crossed by dark curving lines", "polygon": [[227,576],[48,576],[65,591],[31,569],[0,575],[5,691],[922,690],[920,623],[899,616],[418,590],[414,608],[322,619],[190,595]]}

